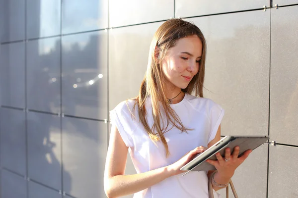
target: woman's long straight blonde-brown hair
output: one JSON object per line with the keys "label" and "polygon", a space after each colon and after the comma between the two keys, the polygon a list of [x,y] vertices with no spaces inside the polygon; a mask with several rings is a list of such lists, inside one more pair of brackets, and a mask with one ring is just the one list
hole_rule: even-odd
{"label": "woman's long straight blonde-brown hair", "polygon": [[[162,72],[161,65],[157,63],[165,57],[167,50],[174,47],[177,40],[185,38],[187,36],[196,35],[200,38],[203,44],[202,58],[200,60],[200,67],[198,73],[190,81],[189,85],[182,89],[183,92],[187,94],[194,94],[195,96],[203,97],[203,84],[205,76],[205,59],[206,59],[206,40],[203,36],[201,30],[194,24],[184,21],[182,19],[170,19],[165,21],[156,30],[154,37],[152,39],[150,50],[149,50],[149,60],[146,75],[142,81],[139,96],[135,98],[135,105],[133,107],[133,112],[136,106],[138,106],[138,113],[140,121],[142,122],[145,130],[147,131],[149,138],[155,143],[156,141],[161,141],[165,150],[166,157],[170,154],[167,142],[164,137],[164,133],[169,129],[168,125],[171,123],[173,127],[178,128],[181,132],[186,132],[187,129],[183,126],[180,118],[175,113],[175,111],[170,107],[167,98],[164,94],[164,83],[165,75]],[[158,57],[156,59],[156,50],[158,49]],[[149,127],[146,120],[146,99],[150,96],[152,102],[152,116],[153,116],[153,126]],[[161,106],[158,104],[161,103]],[[162,109],[161,109],[162,108]],[[166,115],[166,127],[161,128],[161,110]],[[156,131],[157,133],[154,133]]]}

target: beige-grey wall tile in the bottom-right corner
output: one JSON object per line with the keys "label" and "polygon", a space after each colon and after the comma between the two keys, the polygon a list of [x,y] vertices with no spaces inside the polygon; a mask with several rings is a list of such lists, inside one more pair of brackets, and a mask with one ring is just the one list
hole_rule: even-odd
{"label": "beige-grey wall tile in the bottom-right corner", "polygon": [[269,149],[268,198],[298,198],[297,147]]}

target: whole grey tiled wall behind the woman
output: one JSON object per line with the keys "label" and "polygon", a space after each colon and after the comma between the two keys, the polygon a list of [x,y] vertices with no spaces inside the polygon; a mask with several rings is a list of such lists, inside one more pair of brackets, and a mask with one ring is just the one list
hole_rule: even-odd
{"label": "whole grey tiled wall behind the woman", "polygon": [[236,170],[238,196],[298,198],[298,0],[0,0],[0,198],[105,197],[108,111],[178,17],[206,37],[222,135],[277,142]]}

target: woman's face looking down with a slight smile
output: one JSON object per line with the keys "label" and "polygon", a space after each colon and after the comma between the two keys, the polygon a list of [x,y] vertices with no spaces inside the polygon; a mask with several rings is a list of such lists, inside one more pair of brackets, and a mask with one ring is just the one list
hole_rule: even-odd
{"label": "woman's face looking down with a slight smile", "polygon": [[186,88],[199,71],[202,49],[203,44],[195,35],[179,39],[161,61],[167,80],[178,88]]}

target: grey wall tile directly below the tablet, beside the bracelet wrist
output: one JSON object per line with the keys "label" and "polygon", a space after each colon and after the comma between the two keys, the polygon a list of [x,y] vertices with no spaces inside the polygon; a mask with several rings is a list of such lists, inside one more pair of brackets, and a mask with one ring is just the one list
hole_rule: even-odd
{"label": "grey wall tile directly below the tablet, beside the bracelet wrist", "polygon": [[[239,198],[266,198],[268,145],[262,145],[249,154],[236,169],[232,182]],[[225,189],[218,191],[225,197]],[[233,198],[229,187],[229,197]]]}

